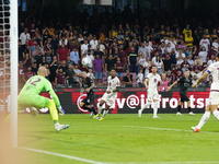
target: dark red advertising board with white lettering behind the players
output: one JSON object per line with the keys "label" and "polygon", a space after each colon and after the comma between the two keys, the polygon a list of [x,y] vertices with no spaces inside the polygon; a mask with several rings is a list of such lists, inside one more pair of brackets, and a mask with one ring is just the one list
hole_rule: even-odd
{"label": "dark red advertising board with white lettering behind the players", "polygon": [[[105,87],[95,89],[95,105],[99,106],[99,102],[102,95],[105,93]],[[87,114],[88,112],[80,108],[80,102],[87,96],[84,93],[80,96],[79,89],[55,89],[58,95],[61,106],[67,114]],[[47,92],[42,93],[43,96],[50,97]],[[191,107],[194,113],[204,113],[206,105],[208,105],[209,87],[189,89],[187,92],[191,98]],[[170,92],[159,93],[159,113],[174,114],[180,101],[178,89],[173,89]],[[111,114],[137,114],[137,110],[147,102],[147,92],[143,87],[138,89],[120,89],[115,104],[111,107]],[[4,105],[9,109],[10,96],[4,99]],[[0,109],[2,105],[0,105]],[[187,113],[187,104],[184,103],[182,113]],[[24,113],[28,109],[24,109]],[[47,108],[41,109],[41,113],[48,113]],[[151,106],[143,110],[143,113],[152,113]]]}

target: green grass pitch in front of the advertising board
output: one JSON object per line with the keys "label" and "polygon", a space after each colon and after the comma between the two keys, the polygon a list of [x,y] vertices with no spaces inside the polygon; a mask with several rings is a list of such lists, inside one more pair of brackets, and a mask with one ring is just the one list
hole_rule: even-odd
{"label": "green grass pitch in front of the advertising board", "polygon": [[[103,163],[219,163],[219,122],[214,116],[199,133],[191,130],[201,115],[110,114],[105,120],[66,115],[56,132],[50,115],[19,115],[19,147],[61,153]],[[50,154],[21,150],[32,164],[81,164]]]}

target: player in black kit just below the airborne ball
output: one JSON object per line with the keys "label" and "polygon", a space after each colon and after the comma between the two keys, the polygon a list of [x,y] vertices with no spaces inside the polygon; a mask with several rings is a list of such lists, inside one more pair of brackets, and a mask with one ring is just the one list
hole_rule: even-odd
{"label": "player in black kit just below the airborne ball", "polygon": [[94,115],[97,114],[95,108],[93,107],[94,97],[95,97],[95,94],[93,92],[94,83],[93,83],[92,79],[87,77],[85,71],[81,72],[81,77],[83,78],[82,86],[81,86],[81,95],[85,91],[87,97],[80,103],[80,107],[83,108],[83,109],[88,109],[91,113],[90,117],[92,117],[93,114]]}

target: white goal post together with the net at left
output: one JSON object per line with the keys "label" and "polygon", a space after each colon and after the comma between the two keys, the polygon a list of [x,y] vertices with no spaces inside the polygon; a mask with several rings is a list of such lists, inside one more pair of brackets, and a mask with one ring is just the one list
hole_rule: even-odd
{"label": "white goal post together with the net at left", "polygon": [[18,0],[0,0],[0,115],[11,113],[11,141],[18,138]]}

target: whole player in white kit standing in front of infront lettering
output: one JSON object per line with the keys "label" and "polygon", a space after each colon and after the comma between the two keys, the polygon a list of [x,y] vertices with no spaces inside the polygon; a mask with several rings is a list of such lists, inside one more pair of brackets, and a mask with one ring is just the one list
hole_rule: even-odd
{"label": "whole player in white kit standing in front of infront lettering", "polygon": [[163,82],[161,81],[161,77],[157,72],[158,69],[155,66],[153,66],[152,73],[149,73],[145,81],[146,90],[148,90],[148,103],[138,110],[139,117],[141,117],[143,109],[146,109],[153,102],[153,118],[160,118],[157,116],[159,106],[158,83],[160,82],[161,84],[163,84]]}

